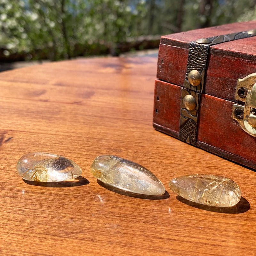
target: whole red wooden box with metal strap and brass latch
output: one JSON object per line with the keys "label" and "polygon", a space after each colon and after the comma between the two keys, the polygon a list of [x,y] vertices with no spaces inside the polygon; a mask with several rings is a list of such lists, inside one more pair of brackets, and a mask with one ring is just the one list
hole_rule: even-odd
{"label": "whole red wooden box with metal strap and brass latch", "polygon": [[256,169],[255,28],[250,21],[161,37],[156,130]]}

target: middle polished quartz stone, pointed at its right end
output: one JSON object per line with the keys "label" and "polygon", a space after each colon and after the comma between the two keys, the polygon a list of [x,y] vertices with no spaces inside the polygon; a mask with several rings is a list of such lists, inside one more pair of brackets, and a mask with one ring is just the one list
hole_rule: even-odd
{"label": "middle polished quartz stone, pointed at its right end", "polygon": [[164,185],[140,164],[117,156],[98,156],[91,165],[94,177],[102,182],[132,193],[163,195]]}

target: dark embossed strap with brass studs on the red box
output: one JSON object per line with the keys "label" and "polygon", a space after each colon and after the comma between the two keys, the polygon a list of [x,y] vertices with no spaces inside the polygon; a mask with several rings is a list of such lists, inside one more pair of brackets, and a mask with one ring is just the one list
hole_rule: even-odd
{"label": "dark embossed strap with brass studs on the red box", "polygon": [[200,96],[211,45],[256,36],[256,29],[228,35],[201,38],[189,44],[186,79],[181,89],[179,139],[196,146]]}

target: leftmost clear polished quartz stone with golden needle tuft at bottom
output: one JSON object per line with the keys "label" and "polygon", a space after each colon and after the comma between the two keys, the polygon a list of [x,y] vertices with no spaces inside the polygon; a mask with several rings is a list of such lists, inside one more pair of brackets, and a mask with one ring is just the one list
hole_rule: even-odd
{"label": "leftmost clear polished quartz stone with golden needle tuft at bottom", "polygon": [[81,175],[81,168],[73,161],[54,154],[36,152],[20,158],[17,171],[24,180],[64,181]]}

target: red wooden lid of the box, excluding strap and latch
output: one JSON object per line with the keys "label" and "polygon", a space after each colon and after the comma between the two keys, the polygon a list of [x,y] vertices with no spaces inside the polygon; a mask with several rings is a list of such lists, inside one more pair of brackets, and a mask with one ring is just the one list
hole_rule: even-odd
{"label": "red wooden lid of the box, excluding strap and latch", "polygon": [[[199,38],[227,35],[256,28],[256,20],[190,30],[161,37],[157,78],[182,86],[186,76],[189,43]],[[210,47],[204,93],[236,101],[238,78],[256,72],[256,36]]]}

